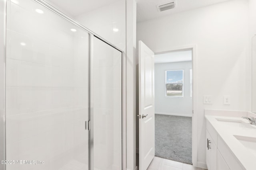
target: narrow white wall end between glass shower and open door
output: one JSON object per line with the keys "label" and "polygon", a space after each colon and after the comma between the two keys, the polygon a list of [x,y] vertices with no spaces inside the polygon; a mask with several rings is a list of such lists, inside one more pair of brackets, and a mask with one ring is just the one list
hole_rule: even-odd
{"label": "narrow white wall end between glass shower and open door", "polygon": [[[123,67],[124,68],[124,67]],[[126,169],[136,170],[136,1],[126,0]]]}

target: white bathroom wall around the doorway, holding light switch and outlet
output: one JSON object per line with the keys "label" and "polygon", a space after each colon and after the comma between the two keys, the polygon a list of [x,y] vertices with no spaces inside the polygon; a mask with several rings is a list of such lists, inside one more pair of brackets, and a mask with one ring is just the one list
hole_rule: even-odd
{"label": "white bathroom wall around the doorway, holding light switch and outlet", "polygon": [[[137,23],[138,40],[155,53],[197,45],[197,160],[205,166],[204,109],[248,110],[248,1],[231,0]],[[211,95],[213,104],[204,105],[203,95]],[[230,96],[230,105],[223,105],[224,95]]]}

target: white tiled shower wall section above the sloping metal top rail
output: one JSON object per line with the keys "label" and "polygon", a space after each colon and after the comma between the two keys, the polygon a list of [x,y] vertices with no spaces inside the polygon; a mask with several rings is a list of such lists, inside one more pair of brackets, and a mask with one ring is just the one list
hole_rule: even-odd
{"label": "white tiled shower wall section above the sloping metal top rail", "polygon": [[85,27],[125,51],[126,1],[119,0],[108,6],[76,16]]}

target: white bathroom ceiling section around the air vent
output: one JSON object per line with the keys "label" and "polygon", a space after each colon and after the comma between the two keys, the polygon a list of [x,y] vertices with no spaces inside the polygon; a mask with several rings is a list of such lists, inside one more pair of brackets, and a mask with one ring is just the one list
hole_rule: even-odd
{"label": "white bathroom ceiling section around the air vent", "polygon": [[151,20],[170,14],[192,10],[203,6],[209,6],[228,0],[176,0],[176,8],[158,12],[157,5],[171,2],[172,0],[136,0],[137,22]]}

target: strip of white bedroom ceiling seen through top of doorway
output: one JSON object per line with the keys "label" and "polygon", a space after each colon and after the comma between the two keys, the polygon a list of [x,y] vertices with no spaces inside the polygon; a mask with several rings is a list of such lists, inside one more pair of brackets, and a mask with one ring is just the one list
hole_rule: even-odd
{"label": "strip of white bedroom ceiling seen through top of doorway", "polygon": [[192,51],[175,51],[155,55],[155,63],[172,63],[181,61],[192,61]]}

